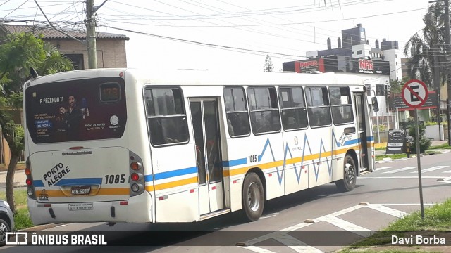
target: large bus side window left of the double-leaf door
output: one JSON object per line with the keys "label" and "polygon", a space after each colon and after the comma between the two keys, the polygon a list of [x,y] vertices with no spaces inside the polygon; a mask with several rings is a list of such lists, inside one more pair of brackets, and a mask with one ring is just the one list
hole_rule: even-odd
{"label": "large bus side window left of the double-leaf door", "polygon": [[152,145],[186,143],[188,126],[179,88],[154,88],[144,91]]}

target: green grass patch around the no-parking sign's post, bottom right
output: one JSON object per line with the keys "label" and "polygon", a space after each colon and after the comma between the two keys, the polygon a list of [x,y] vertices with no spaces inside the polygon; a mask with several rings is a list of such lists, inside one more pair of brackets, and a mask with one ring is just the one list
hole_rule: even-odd
{"label": "green grass patch around the no-parking sign's post, bottom right", "polygon": [[[421,212],[416,211],[407,216],[403,216],[397,219],[393,223],[385,228],[383,231],[378,231],[373,235],[364,238],[353,245],[345,249],[342,252],[354,252],[352,249],[359,249],[358,252],[376,252],[373,249],[366,249],[366,247],[381,246],[381,245],[391,245],[391,236],[397,235],[399,237],[409,237],[410,235],[427,235],[438,237],[443,237],[445,231],[450,231],[451,229],[451,199],[446,200],[442,204],[433,205],[424,209],[424,219],[421,219]],[[449,239],[447,239],[449,240]],[[362,247],[364,249],[362,249]],[[421,250],[421,247],[417,247]],[[421,252],[414,247],[407,247],[407,249],[412,249],[412,251],[407,252]],[[364,250],[364,251],[362,251]],[[397,251],[397,249],[391,249],[389,251],[381,252],[406,252]],[[379,252],[379,251],[377,251]]]}

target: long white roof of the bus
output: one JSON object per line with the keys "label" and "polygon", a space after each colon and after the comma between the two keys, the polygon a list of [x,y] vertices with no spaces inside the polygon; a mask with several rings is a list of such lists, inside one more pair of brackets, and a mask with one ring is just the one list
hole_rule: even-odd
{"label": "long white roof of the bus", "polygon": [[216,72],[211,70],[173,70],[149,71],[132,68],[104,68],[95,70],[74,70],[60,72],[31,79],[32,84],[61,82],[68,79],[87,79],[94,77],[128,77],[147,84],[171,85],[284,85],[284,84],[323,84],[323,85],[363,85],[364,79],[353,74],[304,74],[295,72]]}

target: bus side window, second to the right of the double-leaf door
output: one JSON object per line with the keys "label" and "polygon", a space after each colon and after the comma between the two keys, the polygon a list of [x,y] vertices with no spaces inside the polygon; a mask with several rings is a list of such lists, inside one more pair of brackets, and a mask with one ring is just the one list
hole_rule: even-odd
{"label": "bus side window, second to the right of the double-leaf door", "polygon": [[254,134],[280,131],[276,88],[248,88],[247,100],[249,100],[251,127]]}

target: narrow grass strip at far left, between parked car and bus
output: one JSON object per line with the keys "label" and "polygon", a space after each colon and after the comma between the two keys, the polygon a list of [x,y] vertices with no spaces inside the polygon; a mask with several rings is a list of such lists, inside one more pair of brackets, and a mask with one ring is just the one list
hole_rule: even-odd
{"label": "narrow grass strip at far left, between parked car and bus", "polygon": [[[0,192],[0,199],[6,200],[5,192]],[[14,214],[16,230],[32,227],[33,223],[27,206],[27,191],[14,190],[14,202],[16,203],[16,214]]]}

